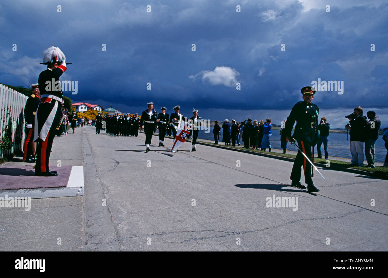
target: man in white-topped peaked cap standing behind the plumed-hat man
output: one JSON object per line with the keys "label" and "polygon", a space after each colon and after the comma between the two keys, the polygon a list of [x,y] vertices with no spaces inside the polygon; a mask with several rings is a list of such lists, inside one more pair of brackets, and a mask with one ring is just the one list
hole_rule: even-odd
{"label": "man in white-topped peaked cap standing behind the plumed-hat man", "polygon": [[35,114],[40,101],[38,85],[38,83],[30,85],[33,94],[29,96],[26,106],[24,106],[24,120],[26,121],[24,133],[26,134],[26,140],[24,141],[23,147],[23,162],[35,162],[35,159],[31,156],[35,156],[36,152],[36,143],[33,142],[33,139]]}

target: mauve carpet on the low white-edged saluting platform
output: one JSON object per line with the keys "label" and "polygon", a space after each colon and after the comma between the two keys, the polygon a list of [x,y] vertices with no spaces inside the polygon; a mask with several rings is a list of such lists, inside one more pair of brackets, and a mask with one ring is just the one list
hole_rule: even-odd
{"label": "mauve carpet on the low white-edged saluting platform", "polygon": [[68,185],[72,166],[52,166],[50,170],[57,171],[57,176],[36,177],[33,165],[31,163],[29,166],[0,167],[0,190],[66,187]]}

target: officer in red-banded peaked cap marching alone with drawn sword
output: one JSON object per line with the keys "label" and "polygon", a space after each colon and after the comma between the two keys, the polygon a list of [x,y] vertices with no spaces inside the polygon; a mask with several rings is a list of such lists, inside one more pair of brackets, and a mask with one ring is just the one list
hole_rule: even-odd
{"label": "officer in red-banded peaked cap marching alone with drawn sword", "polygon": [[[312,103],[314,99],[315,89],[307,86],[301,89],[303,101],[299,101],[294,105],[290,115],[286,121],[286,138],[289,142],[298,141],[300,151],[296,154],[294,165],[291,172],[291,186],[296,186],[301,189],[306,187],[300,183],[301,166],[305,173],[305,182],[307,184],[308,192],[318,192],[311,178],[311,164],[307,161],[305,156],[301,153],[303,151],[306,156],[312,160],[311,148],[318,142],[318,113],[319,108]],[[291,138],[291,131],[296,121],[293,138]]]}

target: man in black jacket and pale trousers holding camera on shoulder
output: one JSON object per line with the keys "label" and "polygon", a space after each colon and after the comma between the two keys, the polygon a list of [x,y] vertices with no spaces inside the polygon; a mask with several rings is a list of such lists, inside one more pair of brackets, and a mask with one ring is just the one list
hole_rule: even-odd
{"label": "man in black jacket and pale trousers holding camera on shoulder", "polygon": [[364,127],[366,125],[366,118],[362,115],[363,110],[361,106],[353,109],[353,113],[345,116],[350,120],[349,124],[345,125],[346,129],[350,130],[350,153],[352,153],[352,160],[349,166],[364,167]]}

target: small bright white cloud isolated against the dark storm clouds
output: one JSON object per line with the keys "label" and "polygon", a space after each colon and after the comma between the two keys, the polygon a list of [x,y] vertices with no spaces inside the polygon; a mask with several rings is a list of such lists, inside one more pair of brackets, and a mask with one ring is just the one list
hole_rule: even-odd
{"label": "small bright white cloud isolated against the dark storm clouds", "polygon": [[236,86],[237,76],[240,73],[230,67],[216,67],[213,71],[211,70],[202,70],[198,72],[195,76],[191,75],[189,78],[195,80],[197,77],[201,77],[202,81],[207,81],[211,85],[223,85],[227,87]]}

